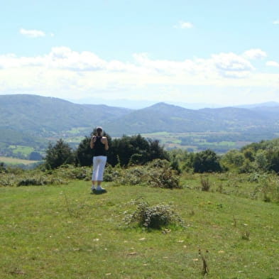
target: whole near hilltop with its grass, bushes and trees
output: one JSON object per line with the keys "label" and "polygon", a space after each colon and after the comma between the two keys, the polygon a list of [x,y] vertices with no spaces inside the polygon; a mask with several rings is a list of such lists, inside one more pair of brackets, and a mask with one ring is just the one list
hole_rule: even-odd
{"label": "whole near hilltop with its grass, bushes and trees", "polygon": [[50,145],[33,170],[0,165],[0,278],[279,277],[278,139],[219,156],[117,138],[104,195],[88,141]]}

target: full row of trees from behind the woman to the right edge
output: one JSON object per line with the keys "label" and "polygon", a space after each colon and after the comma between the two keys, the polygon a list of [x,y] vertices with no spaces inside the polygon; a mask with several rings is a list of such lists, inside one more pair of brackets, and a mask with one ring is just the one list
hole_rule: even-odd
{"label": "full row of trees from behind the woman to the right edge", "polygon": [[[238,173],[279,173],[279,138],[251,143],[240,151],[232,150],[224,155],[217,155],[210,149],[197,153],[182,150],[165,151],[159,141],[143,138],[140,134],[111,139],[111,136],[104,132],[104,136],[109,142],[107,163],[112,167],[144,165],[154,159],[163,159],[170,161],[172,168],[178,172],[186,170],[193,173],[217,173],[234,170]],[[62,139],[55,144],[50,143],[43,166],[54,169],[64,164],[92,165],[93,151],[90,148],[90,140],[91,136],[85,136],[76,150]]]}

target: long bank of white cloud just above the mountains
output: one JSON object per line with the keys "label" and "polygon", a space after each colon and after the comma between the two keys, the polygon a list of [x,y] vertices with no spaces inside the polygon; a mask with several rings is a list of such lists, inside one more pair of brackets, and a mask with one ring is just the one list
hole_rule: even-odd
{"label": "long bank of white cloud just above the mountains", "polygon": [[[251,58],[261,52],[247,50],[245,53]],[[279,66],[273,61],[266,65]],[[75,99],[75,96],[100,97],[103,92],[107,99],[135,99],[137,94],[145,92],[149,98],[156,99],[161,92],[165,92],[162,98],[168,96],[169,91],[186,101],[199,96],[197,88],[201,87],[204,93],[199,92],[200,96],[207,94],[210,100],[214,98],[213,93],[209,96],[213,87],[215,93],[219,88],[218,94],[234,92],[232,87],[235,92],[246,87],[278,88],[278,74],[255,71],[245,55],[236,53],[180,61],[154,60],[146,53],[137,53],[130,62],[104,60],[92,52],[77,52],[67,47],[52,48],[50,53],[33,57],[0,55],[0,94],[29,92]],[[195,96],[190,92],[196,92]]]}

